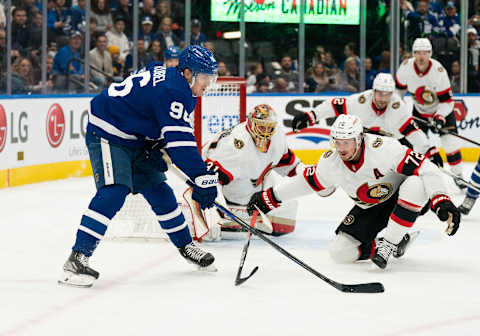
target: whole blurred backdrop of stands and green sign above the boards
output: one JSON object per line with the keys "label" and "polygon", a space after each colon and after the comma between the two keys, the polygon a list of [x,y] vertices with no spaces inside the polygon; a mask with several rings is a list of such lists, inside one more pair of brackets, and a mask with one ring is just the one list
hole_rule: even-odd
{"label": "whole blurred backdrop of stands and green sign above the boards", "polygon": [[358,92],[417,37],[454,93],[476,93],[479,13],[480,0],[3,0],[0,94],[99,92],[189,44],[247,93]]}

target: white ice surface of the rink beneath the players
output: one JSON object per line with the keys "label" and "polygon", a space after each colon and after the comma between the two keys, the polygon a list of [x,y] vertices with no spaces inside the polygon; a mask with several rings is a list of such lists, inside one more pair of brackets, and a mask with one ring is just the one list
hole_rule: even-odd
{"label": "white ice surface of the rink beneath the players", "polygon": [[353,205],[341,190],[301,199],[295,232],[275,242],[336,281],[382,282],[382,294],[337,291],[259,239],[243,273],[260,269],[235,287],[245,234],[202,244],[216,273],[197,271],[167,242],[102,242],[93,287],[60,286],[93,194],[91,177],[0,190],[1,336],[480,335],[480,204],[453,237],[432,212],[419,218],[418,239],[383,271],[330,259],[327,243]]}

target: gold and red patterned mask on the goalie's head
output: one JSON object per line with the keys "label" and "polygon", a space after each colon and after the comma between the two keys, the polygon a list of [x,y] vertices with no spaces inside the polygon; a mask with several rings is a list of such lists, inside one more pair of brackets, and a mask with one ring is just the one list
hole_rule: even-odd
{"label": "gold and red patterned mask on the goalie's head", "polygon": [[277,116],[270,105],[261,104],[253,108],[248,114],[247,131],[253,138],[257,149],[266,153],[270,146],[270,139],[277,127]]}

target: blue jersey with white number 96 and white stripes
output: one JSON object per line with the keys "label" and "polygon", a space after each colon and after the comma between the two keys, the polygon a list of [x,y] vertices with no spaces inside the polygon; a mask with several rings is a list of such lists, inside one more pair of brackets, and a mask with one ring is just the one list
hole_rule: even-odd
{"label": "blue jersey with white number 96 and white stripes", "polygon": [[207,172],[190,123],[196,102],[177,68],[152,62],[92,99],[87,131],[124,146],[158,141],[193,180]]}

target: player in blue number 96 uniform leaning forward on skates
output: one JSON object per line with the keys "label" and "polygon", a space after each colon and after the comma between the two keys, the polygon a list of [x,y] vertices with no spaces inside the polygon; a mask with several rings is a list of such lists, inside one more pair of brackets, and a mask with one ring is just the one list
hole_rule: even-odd
{"label": "player in blue number 96 uniform leaning forward on skates", "polygon": [[177,200],[166,183],[162,153],[194,181],[192,198],[213,206],[217,175],[197,149],[190,115],[197,96],[216,80],[217,61],[201,46],[182,51],[179,65],[152,62],[91,101],[86,144],[97,192],[82,216],[59,283],[90,287],[99,273],[89,257],[129,193],[141,193],[159,225],[190,263],[207,268],[212,254],[194,245]]}

